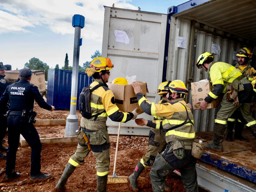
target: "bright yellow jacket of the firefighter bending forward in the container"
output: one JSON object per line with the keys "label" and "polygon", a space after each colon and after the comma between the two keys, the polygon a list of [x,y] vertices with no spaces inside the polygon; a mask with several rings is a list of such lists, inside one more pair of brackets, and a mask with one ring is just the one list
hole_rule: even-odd
{"label": "bright yellow jacket of the firefighter bending forward in the container", "polygon": [[234,66],[223,62],[212,62],[209,65],[207,74],[210,75],[213,86],[213,90],[204,99],[208,103],[211,103],[212,100],[217,99],[218,96],[226,92],[227,83],[232,83],[237,77],[242,75]]}

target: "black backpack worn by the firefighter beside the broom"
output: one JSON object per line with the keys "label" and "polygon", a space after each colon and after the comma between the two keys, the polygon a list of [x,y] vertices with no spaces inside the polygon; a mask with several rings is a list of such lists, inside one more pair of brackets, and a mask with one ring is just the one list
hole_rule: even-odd
{"label": "black backpack worn by the firefighter beside the broom", "polygon": [[104,111],[101,113],[92,115],[91,106],[90,106],[90,95],[91,95],[91,92],[93,92],[95,89],[98,89],[101,86],[104,86],[104,84],[100,83],[100,84],[94,86],[92,89],[90,89],[90,87],[91,87],[90,85],[88,85],[87,87],[84,87],[82,92],[79,94],[79,101],[78,101],[79,111],[80,111],[81,115],[86,119],[91,119],[92,117],[95,117],[93,119],[95,121],[97,119],[97,117]]}

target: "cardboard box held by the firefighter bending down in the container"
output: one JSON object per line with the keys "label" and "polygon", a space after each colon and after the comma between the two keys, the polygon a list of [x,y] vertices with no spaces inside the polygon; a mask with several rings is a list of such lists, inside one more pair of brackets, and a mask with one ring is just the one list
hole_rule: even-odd
{"label": "cardboard box held by the firefighter bending down in the container", "polygon": [[[192,94],[192,104],[193,109],[199,109],[199,104],[196,102],[204,100],[210,91],[212,91],[212,83],[210,81],[195,82],[191,83],[191,94]],[[208,103],[206,109],[217,108],[222,101],[222,97],[218,97],[217,100],[213,100]]]}

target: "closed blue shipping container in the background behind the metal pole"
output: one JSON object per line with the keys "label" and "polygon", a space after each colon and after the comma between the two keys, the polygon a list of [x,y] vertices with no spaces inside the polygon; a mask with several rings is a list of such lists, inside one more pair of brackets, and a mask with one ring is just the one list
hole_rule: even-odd
{"label": "closed blue shipping container in the background behind the metal pole", "polygon": [[[55,107],[56,110],[70,109],[72,71],[64,69],[48,70],[47,103]],[[92,83],[92,76],[88,77],[85,72],[79,71],[77,85],[78,109],[79,94],[84,87]]]}

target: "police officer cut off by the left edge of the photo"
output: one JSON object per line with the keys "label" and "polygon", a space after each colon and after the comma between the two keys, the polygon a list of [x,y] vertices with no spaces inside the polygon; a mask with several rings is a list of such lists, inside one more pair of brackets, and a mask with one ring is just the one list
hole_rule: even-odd
{"label": "police officer cut off by the left edge of the photo", "polygon": [[[0,62],[0,96],[4,94],[6,87],[9,83],[4,79],[6,67],[4,67],[3,62]],[[7,130],[7,118],[5,116],[6,112],[8,111],[7,105],[0,109],[0,159],[6,159],[6,155],[1,153],[1,151],[7,151],[8,148],[3,146],[3,139]]]}

